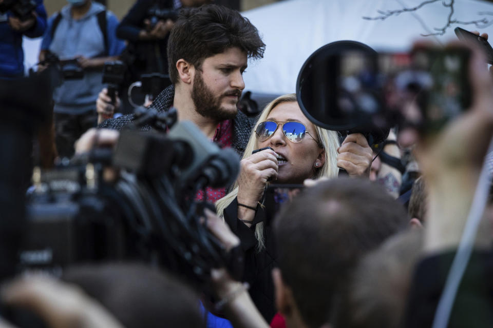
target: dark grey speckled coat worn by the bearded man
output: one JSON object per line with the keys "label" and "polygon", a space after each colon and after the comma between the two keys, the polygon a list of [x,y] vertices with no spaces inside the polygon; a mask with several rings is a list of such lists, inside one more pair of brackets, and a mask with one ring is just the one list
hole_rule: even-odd
{"label": "dark grey speckled coat worn by the bearded man", "polygon": [[[150,105],[150,108],[154,108],[158,111],[167,111],[173,106],[173,99],[175,97],[175,87],[173,85],[164,89]],[[99,128],[121,130],[124,126],[129,124],[134,120],[134,115],[128,114],[120,116],[118,118],[107,119],[99,125]],[[233,120],[233,148],[236,150],[238,155],[242,156],[247,147],[248,140],[250,139],[250,134],[252,133],[253,125],[255,120],[249,118],[247,115],[238,111],[238,114]],[[144,131],[151,130],[150,126],[145,126],[142,128]]]}

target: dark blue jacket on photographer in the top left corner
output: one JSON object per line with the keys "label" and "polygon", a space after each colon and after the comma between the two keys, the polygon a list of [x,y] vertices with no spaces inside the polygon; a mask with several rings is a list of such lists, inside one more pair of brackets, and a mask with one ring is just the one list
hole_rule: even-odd
{"label": "dark blue jacket on photographer in the top left corner", "polygon": [[22,33],[10,28],[8,17],[12,16],[12,13],[8,11],[5,14],[0,14],[0,78],[24,74],[22,36],[39,37],[46,30],[46,10],[43,6],[43,0],[36,0],[36,3],[36,23],[31,29]]}

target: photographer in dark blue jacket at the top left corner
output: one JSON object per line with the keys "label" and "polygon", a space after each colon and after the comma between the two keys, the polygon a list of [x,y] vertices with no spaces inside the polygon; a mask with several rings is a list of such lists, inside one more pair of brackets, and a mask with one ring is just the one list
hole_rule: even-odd
{"label": "photographer in dark blue jacket at the top left corner", "polygon": [[[11,1],[0,0],[0,8]],[[18,17],[9,7],[25,5],[15,2],[0,9],[0,78],[16,78],[24,75],[24,51],[22,37],[40,37],[46,30],[46,10],[43,0],[36,0],[36,7],[26,17]],[[20,8],[23,9],[23,8]]]}

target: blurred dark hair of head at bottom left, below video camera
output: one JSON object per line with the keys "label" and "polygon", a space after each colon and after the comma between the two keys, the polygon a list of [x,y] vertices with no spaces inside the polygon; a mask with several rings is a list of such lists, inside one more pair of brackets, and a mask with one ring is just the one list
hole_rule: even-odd
{"label": "blurred dark hair of head at bottom left, below video camera", "polygon": [[198,296],[178,279],[141,264],[77,265],[63,274],[126,328],[205,327]]}

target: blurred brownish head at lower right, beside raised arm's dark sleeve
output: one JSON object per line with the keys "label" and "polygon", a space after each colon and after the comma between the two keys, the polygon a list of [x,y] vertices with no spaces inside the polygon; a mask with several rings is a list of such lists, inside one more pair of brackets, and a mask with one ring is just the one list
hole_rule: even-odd
{"label": "blurred brownish head at lower right, beside raised arm's dark sleeve", "polygon": [[362,258],[336,314],[336,328],[402,326],[412,274],[422,255],[423,233],[409,229]]}

